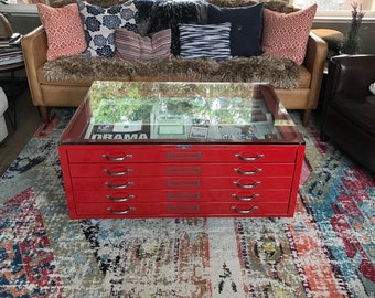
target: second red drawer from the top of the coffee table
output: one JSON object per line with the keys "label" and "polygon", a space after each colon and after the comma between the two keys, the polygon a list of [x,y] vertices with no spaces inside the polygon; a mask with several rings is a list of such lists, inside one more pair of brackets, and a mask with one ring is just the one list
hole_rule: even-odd
{"label": "second red drawer from the top of the coffee table", "polygon": [[293,163],[72,163],[72,177],[291,177]]}

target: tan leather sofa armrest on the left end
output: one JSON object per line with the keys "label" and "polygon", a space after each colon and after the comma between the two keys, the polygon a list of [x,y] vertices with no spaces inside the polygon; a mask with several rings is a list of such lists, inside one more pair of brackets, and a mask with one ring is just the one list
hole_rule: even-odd
{"label": "tan leather sofa armrest on the left end", "polygon": [[38,79],[38,68],[46,62],[47,40],[44,28],[38,26],[21,41],[31,97],[35,106],[43,105],[43,96]]}

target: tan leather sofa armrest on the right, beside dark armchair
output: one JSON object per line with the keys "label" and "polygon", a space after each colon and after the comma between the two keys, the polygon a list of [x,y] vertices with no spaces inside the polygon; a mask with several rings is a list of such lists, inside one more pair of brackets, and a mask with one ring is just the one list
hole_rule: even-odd
{"label": "tan leather sofa armrest on the right, beside dark armchair", "polygon": [[315,33],[310,32],[303,65],[311,73],[309,109],[314,109],[319,103],[320,87],[326,62],[328,44]]}

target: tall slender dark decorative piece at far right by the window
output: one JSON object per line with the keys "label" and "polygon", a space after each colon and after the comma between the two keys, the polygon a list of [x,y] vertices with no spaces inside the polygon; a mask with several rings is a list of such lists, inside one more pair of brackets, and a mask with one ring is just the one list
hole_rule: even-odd
{"label": "tall slender dark decorative piece at far right by the window", "polygon": [[362,19],[365,13],[362,11],[362,4],[353,2],[352,3],[352,24],[351,30],[347,32],[347,35],[344,38],[341,52],[344,54],[357,54],[360,52],[361,46],[361,38],[360,38],[360,28],[362,23]]}

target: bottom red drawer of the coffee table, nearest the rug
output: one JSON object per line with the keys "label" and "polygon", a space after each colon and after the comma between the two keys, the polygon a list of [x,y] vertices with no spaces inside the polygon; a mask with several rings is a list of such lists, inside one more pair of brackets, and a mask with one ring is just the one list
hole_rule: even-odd
{"label": "bottom red drawer of the coffee table, nearest the rug", "polygon": [[77,217],[286,216],[288,203],[76,203]]}

